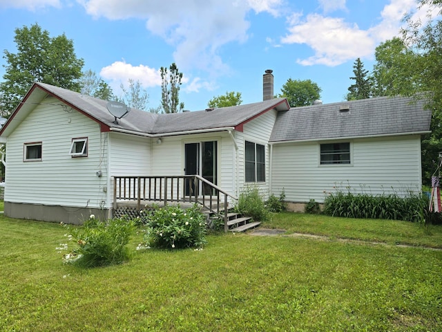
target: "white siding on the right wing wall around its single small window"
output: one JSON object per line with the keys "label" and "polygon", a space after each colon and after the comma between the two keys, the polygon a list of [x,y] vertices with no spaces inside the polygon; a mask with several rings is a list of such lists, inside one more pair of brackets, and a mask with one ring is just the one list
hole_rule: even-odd
{"label": "white siding on the right wing wall around its single small window", "polygon": [[319,142],[273,146],[272,192],[287,201],[322,203],[336,190],[406,195],[421,189],[421,140],[402,136],[353,140],[351,165],[319,165]]}

